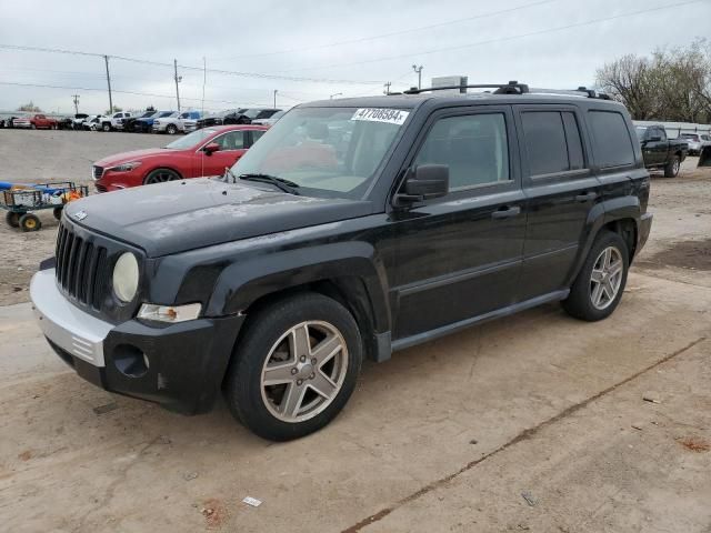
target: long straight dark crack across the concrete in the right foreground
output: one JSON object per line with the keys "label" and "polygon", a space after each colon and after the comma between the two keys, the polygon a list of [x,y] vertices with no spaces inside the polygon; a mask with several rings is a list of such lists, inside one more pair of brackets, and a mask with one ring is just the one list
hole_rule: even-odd
{"label": "long straight dark crack across the concrete in the right foreground", "polygon": [[594,394],[594,395],[592,395],[590,398],[587,398],[582,402],[575,403],[575,404],[571,405],[570,408],[564,409],[560,413],[551,416],[548,420],[544,420],[543,422],[541,422],[540,424],[534,425],[533,428],[528,428],[528,429],[523,430],[521,433],[519,433],[518,435],[515,435],[513,439],[511,439],[510,441],[505,442],[504,444],[500,445],[499,447],[497,447],[492,452],[489,452],[488,454],[482,455],[479,459],[470,461],[464,466],[459,469],[457,472],[453,472],[453,473],[451,473],[449,475],[445,475],[444,477],[440,477],[439,480],[435,480],[435,481],[432,481],[432,482],[428,483],[422,489],[420,489],[420,490],[413,492],[412,494],[409,494],[405,497],[397,501],[390,507],[381,509],[377,513],[371,514],[370,516],[361,520],[360,522],[351,525],[350,527],[347,527],[346,530],[342,530],[341,533],[357,533],[357,532],[361,531],[363,527],[384,519],[385,516],[391,514],[393,511],[402,507],[403,505],[405,505],[405,504],[408,504],[410,502],[413,502],[413,501],[418,500],[419,497],[421,497],[421,496],[434,491],[435,489],[439,489],[440,486],[443,486],[443,485],[448,484],[453,479],[458,477],[459,475],[463,474],[464,472],[470,471],[471,469],[473,469],[478,464],[483,463],[488,459],[493,457],[494,455],[505,451],[507,449],[509,449],[509,447],[511,447],[511,446],[513,446],[513,445],[515,445],[515,444],[518,444],[520,442],[523,442],[523,441],[527,441],[529,439],[532,439],[535,434],[541,432],[543,429],[545,429],[545,428],[548,428],[548,426],[550,426],[550,425],[552,425],[552,424],[565,419],[567,416],[572,415],[573,413],[575,413],[575,412],[580,411],[581,409],[588,406],[590,403],[594,402],[595,400],[599,400],[602,396],[615,391],[620,386],[630,383],[631,381],[635,380],[637,378],[641,376],[642,374],[645,374],[650,370],[653,370],[657,366],[660,366],[660,365],[671,361],[672,359],[681,355],[682,353],[688,352],[693,346],[695,346],[697,344],[699,344],[699,343],[701,343],[701,342],[703,342],[705,340],[707,340],[705,336],[700,336],[695,341],[687,344],[684,348],[681,348],[681,349],[670,353],[669,355],[665,355],[664,358],[660,359],[659,361],[650,364],[649,366],[645,366],[644,369],[635,372],[634,374],[625,378],[624,380],[622,380],[622,381],[620,381],[618,383],[614,383],[613,385],[608,386],[607,389],[598,392],[597,394]]}

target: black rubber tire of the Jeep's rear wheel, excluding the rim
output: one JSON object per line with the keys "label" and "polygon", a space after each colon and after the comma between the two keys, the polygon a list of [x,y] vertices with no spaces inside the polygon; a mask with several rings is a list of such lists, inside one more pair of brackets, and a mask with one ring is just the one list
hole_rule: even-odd
{"label": "black rubber tire of the Jeep's rear wheel, excluding the rim", "polygon": [[[604,303],[605,306],[603,309],[600,309],[599,306],[595,306],[593,304],[592,275],[593,269],[598,263],[602,252],[605,249],[610,248],[617,250],[617,252],[619,253],[619,258],[622,261],[621,279],[614,298],[609,299],[608,302]],[[627,284],[627,274],[629,268],[630,253],[624,239],[622,239],[618,233],[602,230],[590,248],[588,258],[580,269],[575,281],[570,288],[570,294],[568,295],[568,299],[562,302],[563,309],[571,316],[580,320],[585,320],[588,322],[595,322],[598,320],[607,319],[608,316],[610,316],[610,314],[612,314],[612,312],[620,303],[620,299],[622,298],[622,293],[624,292],[624,285]]]}

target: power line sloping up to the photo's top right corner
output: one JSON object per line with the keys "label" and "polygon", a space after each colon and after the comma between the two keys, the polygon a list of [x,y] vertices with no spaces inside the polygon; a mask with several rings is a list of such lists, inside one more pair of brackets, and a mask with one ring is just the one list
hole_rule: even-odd
{"label": "power line sloping up to the photo's top right corner", "polygon": [[304,69],[290,69],[290,70],[282,70],[281,72],[302,72],[302,71],[310,71],[310,70],[322,70],[322,69],[333,69],[333,68],[340,68],[340,67],[353,67],[353,66],[358,66],[358,64],[368,64],[368,63],[379,63],[382,61],[391,61],[394,59],[412,59],[413,57],[420,57],[420,56],[430,56],[433,53],[440,53],[440,52],[450,52],[452,50],[463,50],[467,48],[474,48],[474,47],[480,47],[482,44],[491,44],[494,42],[504,42],[504,41],[512,41],[515,39],[523,39],[527,37],[535,37],[535,36],[542,36],[545,33],[553,33],[557,31],[563,31],[563,30],[570,30],[572,28],[582,28],[585,26],[592,26],[592,24],[597,24],[600,22],[608,22],[610,20],[617,20],[617,19],[623,19],[627,17],[633,17],[637,14],[644,14],[644,13],[650,13],[653,11],[661,11],[664,9],[671,9],[671,8],[679,8],[682,6],[689,6],[691,3],[700,3],[700,2],[704,2],[707,0],[689,0],[685,2],[678,2],[678,3],[670,3],[667,6],[660,6],[657,8],[650,8],[650,9],[641,9],[639,11],[630,11],[628,13],[621,13],[621,14],[614,14],[611,17],[603,17],[603,18],[599,18],[599,19],[592,19],[592,20],[587,20],[583,22],[575,22],[572,24],[565,24],[565,26],[559,26],[557,28],[548,28],[545,30],[537,30],[537,31],[531,31],[528,33],[519,33],[515,36],[508,36],[508,37],[495,37],[492,39],[487,39],[483,41],[475,41],[475,42],[470,42],[467,44],[458,44],[454,47],[443,47],[443,48],[437,48],[437,49],[432,49],[432,50],[423,50],[423,51],[419,51],[419,52],[408,52],[408,53],[402,53],[402,54],[398,54],[398,56],[388,56],[388,57],[381,57],[381,58],[377,58],[377,59],[367,59],[367,60],[362,60],[362,61],[353,61],[350,63],[336,63],[336,64],[324,64],[321,67],[308,67]]}

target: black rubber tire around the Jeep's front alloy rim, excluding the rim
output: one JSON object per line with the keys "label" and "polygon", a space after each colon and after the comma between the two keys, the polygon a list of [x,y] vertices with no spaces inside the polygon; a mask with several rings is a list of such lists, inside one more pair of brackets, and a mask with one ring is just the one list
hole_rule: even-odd
{"label": "black rubber tire around the Jeep's front alloy rim, excluding the rim", "polygon": [[[262,370],[276,343],[291,328],[307,321],[328,323],[340,333],[347,348],[347,363],[341,370],[340,389],[324,402],[322,410],[307,420],[289,422],[277,418],[268,408],[268,400],[262,393]],[[224,381],[226,401],[234,419],[259,436],[272,441],[299,439],[331,422],[353,393],[361,368],[362,341],[351,313],[330,298],[303,293],[262,308],[249,318],[244,328]],[[306,395],[301,398],[306,402]]]}

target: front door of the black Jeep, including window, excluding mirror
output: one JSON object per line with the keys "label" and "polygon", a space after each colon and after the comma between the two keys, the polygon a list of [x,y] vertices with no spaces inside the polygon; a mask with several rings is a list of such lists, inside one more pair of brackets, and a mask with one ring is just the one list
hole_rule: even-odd
{"label": "front door of the black Jeep, including window, excluding mirror", "polygon": [[392,213],[395,341],[518,301],[525,202],[510,108],[442,110],[425,129],[408,165],[447,164],[450,192]]}

